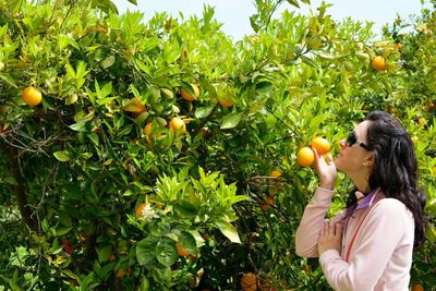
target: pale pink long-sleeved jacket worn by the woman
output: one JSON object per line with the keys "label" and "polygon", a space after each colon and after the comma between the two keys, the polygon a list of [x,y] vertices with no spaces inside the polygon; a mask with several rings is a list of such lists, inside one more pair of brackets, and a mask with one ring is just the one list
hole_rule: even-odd
{"label": "pale pink long-sleeved jacket worn by the woman", "polygon": [[[306,206],[295,235],[299,256],[319,256],[318,234],[334,193],[318,187]],[[332,221],[344,217],[342,211]],[[319,263],[328,283],[338,291],[408,291],[413,241],[413,215],[400,201],[378,192],[368,207],[356,210],[349,219],[342,234],[342,251],[324,252]],[[349,263],[344,259],[347,252]]]}

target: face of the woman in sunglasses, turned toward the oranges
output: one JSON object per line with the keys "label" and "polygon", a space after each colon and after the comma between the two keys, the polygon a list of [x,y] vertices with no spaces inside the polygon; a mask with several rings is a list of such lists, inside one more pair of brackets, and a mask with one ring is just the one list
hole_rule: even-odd
{"label": "face of the woman in sunglasses, turned toward the oranges", "polygon": [[[341,147],[339,155],[335,160],[336,168],[343,171],[349,175],[353,173],[366,173],[371,166],[371,151],[364,148],[367,144],[366,132],[371,124],[371,121],[363,121],[358,124],[354,129],[354,136],[351,138],[340,141],[339,145]],[[351,143],[354,143],[350,145]],[[363,146],[360,144],[363,143]]]}

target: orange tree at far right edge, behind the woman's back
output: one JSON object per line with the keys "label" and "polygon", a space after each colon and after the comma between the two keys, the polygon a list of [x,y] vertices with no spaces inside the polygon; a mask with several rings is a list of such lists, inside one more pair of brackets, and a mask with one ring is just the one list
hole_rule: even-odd
{"label": "orange tree at far right edge, behind the woman's back", "polygon": [[[410,22],[398,19],[391,26],[385,27],[386,37],[391,37],[401,53],[400,64],[404,71],[396,81],[398,88],[386,108],[398,116],[413,133],[412,138],[416,146],[422,186],[428,195],[426,210],[429,214],[427,242],[416,253],[412,268],[412,283],[424,286],[432,290],[436,286],[434,274],[435,251],[431,247],[436,242],[435,216],[435,174],[436,174],[436,142],[435,117],[436,96],[435,76],[431,70],[435,68],[434,51],[436,48],[436,15],[435,1],[429,1],[432,9],[425,9],[421,15],[414,15]],[[412,32],[404,33],[405,27],[413,27]]]}

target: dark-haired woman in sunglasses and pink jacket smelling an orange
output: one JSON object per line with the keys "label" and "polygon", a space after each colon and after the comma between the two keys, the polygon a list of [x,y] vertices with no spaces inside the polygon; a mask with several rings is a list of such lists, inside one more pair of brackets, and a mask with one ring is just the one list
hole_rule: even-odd
{"label": "dark-haired woman in sunglasses and pink jacket smelling an orange", "polygon": [[[375,111],[340,147],[335,162],[314,150],[319,186],[296,230],[296,254],[319,256],[335,290],[408,291],[413,247],[424,242],[426,220],[412,141],[395,118]],[[355,189],[347,208],[326,220],[337,169]]]}

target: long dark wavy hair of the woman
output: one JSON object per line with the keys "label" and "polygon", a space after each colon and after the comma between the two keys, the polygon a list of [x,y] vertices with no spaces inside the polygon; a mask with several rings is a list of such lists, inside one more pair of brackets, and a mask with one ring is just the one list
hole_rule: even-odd
{"label": "long dark wavy hair of the woman", "polygon": [[[425,240],[427,217],[424,206],[427,197],[417,184],[417,162],[410,135],[401,123],[384,111],[366,117],[372,121],[366,133],[368,150],[373,151],[375,167],[370,177],[370,187],[379,187],[386,197],[402,202],[415,220],[414,246]],[[350,195],[347,206],[355,207],[356,199]]]}

